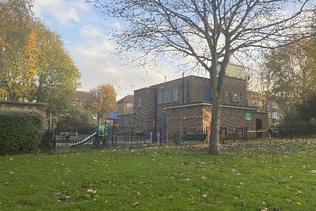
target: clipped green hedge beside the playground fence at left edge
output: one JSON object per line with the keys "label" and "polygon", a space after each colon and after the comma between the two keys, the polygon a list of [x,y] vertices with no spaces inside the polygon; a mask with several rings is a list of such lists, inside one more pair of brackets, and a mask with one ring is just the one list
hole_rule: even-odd
{"label": "clipped green hedge beside the playground fence at left edge", "polygon": [[39,152],[44,124],[37,110],[0,108],[0,155]]}

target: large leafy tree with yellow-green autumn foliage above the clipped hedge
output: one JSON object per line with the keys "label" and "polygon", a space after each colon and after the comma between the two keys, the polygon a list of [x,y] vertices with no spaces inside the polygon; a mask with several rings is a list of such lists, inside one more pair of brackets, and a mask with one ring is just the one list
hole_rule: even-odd
{"label": "large leafy tree with yellow-green autumn foliage above the clipped hedge", "polygon": [[36,99],[67,111],[80,72],[62,38],[31,11],[33,0],[0,0],[0,99]]}

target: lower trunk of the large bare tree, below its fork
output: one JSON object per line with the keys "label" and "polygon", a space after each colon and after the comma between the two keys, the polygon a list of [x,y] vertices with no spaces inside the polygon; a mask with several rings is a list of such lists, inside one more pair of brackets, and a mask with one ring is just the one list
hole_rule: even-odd
{"label": "lower trunk of the large bare tree, below its fork", "polygon": [[210,150],[209,154],[219,155],[219,127],[220,127],[220,114],[221,106],[215,102],[212,104],[212,120],[211,120],[211,131],[210,131]]}

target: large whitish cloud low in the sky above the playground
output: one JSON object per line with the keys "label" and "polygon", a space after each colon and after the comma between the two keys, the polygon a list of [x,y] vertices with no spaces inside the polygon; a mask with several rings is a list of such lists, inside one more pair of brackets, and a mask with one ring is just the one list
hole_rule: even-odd
{"label": "large whitish cloud low in the sky above the playground", "polygon": [[118,96],[123,97],[133,94],[135,89],[164,82],[165,75],[169,75],[168,80],[174,75],[174,69],[168,63],[157,66],[156,71],[148,74],[137,67],[123,66],[118,56],[108,53],[114,47],[111,41],[92,38],[70,49],[82,74],[83,90],[110,83]]}

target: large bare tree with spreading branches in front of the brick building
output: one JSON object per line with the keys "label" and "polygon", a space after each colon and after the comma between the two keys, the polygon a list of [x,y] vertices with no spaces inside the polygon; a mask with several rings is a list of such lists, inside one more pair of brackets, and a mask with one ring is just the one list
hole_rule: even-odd
{"label": "large bare tree with spreading branches in front of the brick building", "polygon": [[[226,67],[238,53],[273,49],[310,36],[312,0],[88,1],[104,16],[126,21],[114,35],[123,51],[190,57],[210,74],[210,154],[219,154],[221,93]],[[285,12],[288,4],[295,12]],[[142,57],[142,58],[143,58]],[[220,65],[219,72],[217,66]],[[217,77],[218,73],[218,77]]]}

